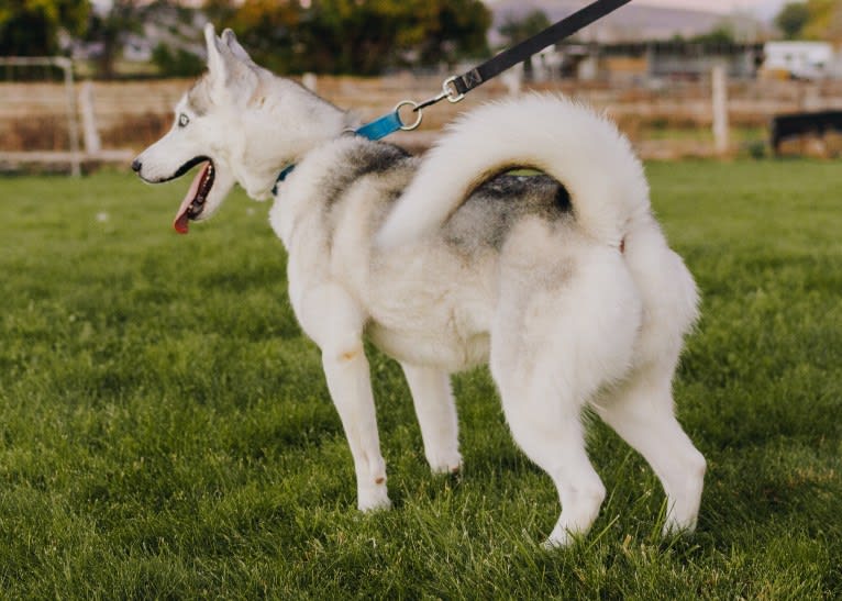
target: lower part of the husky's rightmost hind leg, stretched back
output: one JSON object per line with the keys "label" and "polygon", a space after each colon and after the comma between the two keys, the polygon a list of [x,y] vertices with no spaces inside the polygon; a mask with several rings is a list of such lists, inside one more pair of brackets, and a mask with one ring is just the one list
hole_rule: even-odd
{"label": "lower part of the husky's rightmost hind leg, stretched back", "polygon": [[693,532],[705,485],[705,457],[687,437],[673,409],[672,370],[641,374],[613,398],[595,405],[599,415],[652,466],[667,498],[664,534]]}

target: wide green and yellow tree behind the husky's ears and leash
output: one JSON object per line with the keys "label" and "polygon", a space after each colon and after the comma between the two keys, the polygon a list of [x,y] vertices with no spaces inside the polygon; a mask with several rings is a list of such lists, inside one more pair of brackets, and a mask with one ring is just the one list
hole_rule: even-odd
{"label": "wide green and yellow tree behind the husky's ears and leash", "polygon": [[210,0],[254,58],[282,73],[376,75],[487,51],[480,0]]}

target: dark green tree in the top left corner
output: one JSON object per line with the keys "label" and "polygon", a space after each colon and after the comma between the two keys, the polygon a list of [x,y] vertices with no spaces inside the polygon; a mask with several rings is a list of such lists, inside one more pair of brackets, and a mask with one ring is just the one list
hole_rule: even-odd
{"label": "dark green tree in the top left corner", "polygon": [[88,0],[3,0],[0,55],[49,56],[59,52],[58,32],[84,33]]}

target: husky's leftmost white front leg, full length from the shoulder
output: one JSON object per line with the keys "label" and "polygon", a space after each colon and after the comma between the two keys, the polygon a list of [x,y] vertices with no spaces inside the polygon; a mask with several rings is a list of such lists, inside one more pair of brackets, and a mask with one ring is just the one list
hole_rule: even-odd
{"label": "husky's leftmost white front leg, full length from the shoulder", "polygon": [[322,366],[345,430],[357,479],[361,511],[388,509],[386,461],[380,455],[372,381],[363,348],[365,315],[339,286],[321,286],[306,298],[299,316],[322,350]]}

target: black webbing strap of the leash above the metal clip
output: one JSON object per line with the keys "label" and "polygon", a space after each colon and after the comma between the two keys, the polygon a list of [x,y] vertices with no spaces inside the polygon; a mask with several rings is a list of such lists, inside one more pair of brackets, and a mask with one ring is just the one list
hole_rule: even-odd
{"label": "black webbing strap of the leash above the metal clip", "polygon": [[[555,44],[565,37],[569,37],[583,27],[590,25],[594,21],[602,19],[605,15],[629,2],[631,2],[631,0],[597,0],[592,4],[588,4],[584,9],[550,25],[529,40],[524,40],[520,44],[501,52],[478,67],[450,79],[445,82],[445,86],[452,84],[453,88],[458,92],[458,96],[465,96],[474,88],[488,81],[492,77],[500,75],[506,69],[513,67],[518,63],[524,62],[530,56],[541,52],[551,44]],[[462,99],[459,98],[459,100]],[[451,101],[456,102],[456,100]]]}

